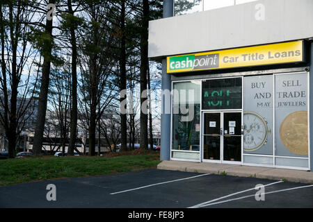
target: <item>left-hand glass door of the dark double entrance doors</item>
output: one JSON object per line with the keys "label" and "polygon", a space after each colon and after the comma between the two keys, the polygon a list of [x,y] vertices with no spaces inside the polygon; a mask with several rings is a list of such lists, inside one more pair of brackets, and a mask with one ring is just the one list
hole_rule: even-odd
{"label": "left-hand glass door of the dark double entrance doors", "polygon": [[221,124],[220,112],[207,112],[203,115],[203,159],[220,160]]}

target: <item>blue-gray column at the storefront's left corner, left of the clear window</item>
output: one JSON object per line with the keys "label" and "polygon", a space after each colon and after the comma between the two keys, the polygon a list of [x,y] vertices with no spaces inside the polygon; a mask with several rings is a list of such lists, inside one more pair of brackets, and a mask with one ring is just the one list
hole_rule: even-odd
{"label": "blue-gray column at the storefront's left corner, left of the clear window", "polygon": [[[163,1],[163,18],[173,16],[173,0]],[[162,92],[171,91],[170,75],[166,73],[166,59],[162,60]],[[170,105],[170,100],[162,96],[161,110],[161,160],[170,160],[170,113],[166,112],[166,107]]]}

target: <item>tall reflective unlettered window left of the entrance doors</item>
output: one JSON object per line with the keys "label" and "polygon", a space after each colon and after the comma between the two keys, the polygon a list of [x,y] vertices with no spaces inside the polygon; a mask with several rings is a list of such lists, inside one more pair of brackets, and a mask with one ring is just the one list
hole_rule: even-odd
{"label": "tall reflective unlettered window left of the entrance doors", "polygon": [[[200,152],[200,84],[200,81],[173,83],[172,150]],[[188,159],[188,155],[175,153],[175,156]]]}

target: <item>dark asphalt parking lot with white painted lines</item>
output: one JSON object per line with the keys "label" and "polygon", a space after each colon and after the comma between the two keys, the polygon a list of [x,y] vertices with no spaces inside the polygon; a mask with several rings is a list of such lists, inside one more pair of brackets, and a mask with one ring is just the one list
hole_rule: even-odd
{"label": "dark asphalt parking lot with white painted lines", "polygon": [[[47,200],[49,184],[56,200]],[[256,185],[264,185],[264,195]],[[313,185],[147,169],[0,187],[0,207],[303,208],[313,207]]]}

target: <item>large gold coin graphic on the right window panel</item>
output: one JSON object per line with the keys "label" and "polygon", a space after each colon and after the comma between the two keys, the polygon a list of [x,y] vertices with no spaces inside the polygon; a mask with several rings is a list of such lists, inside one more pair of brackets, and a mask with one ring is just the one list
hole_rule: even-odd
{"label": "large gold coin graphic on the right window panel", "polygon": [[292,112],[284,118],[280,125],[280,140],[292,153],[308,154],[307,111]]}

